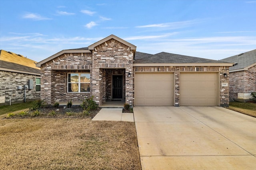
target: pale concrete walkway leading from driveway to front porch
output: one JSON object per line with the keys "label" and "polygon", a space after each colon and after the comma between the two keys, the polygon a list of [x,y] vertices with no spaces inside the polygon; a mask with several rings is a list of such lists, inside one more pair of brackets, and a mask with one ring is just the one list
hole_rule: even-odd
{"label": "pale concrete walkway leading from driveway to front porch", "polygon": [[102,108],[93,121],[132,121],[133,113],[122,113],[122,108]]}

